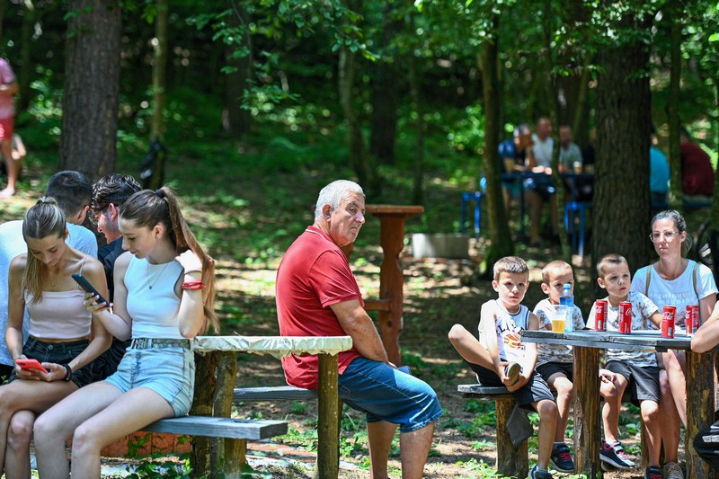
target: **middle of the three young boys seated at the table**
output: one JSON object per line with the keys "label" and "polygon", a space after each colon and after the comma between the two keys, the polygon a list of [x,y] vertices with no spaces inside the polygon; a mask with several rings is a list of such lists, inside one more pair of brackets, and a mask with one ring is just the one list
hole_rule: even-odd
{"label": "middle of the three young boys seated at the table", "polygon": [[[539,329],[552,330],[552,318],[558,311],[559,297],[564,290],[564,284],[569,283],[574,289],[574,273],[572,266],[563,261],[549,262],[542,269],[542,291],[547,295],[534,307],[534,314],[539,321]],[[584,318],[581,317],[579,306],[574,306],[571,312],[573,331],[584,329]],[[566,317],[566,316],[565,316]],[[569,447],[564,442],[564,433],[567,429],[569,412],[574,401],[574,357],[572,346],[558,346],[554,344],[537,344],[537,373],[551,389],[556,391],[556,405],[559,417],[556,421],[555,444],[552,447],[551,462],[556,470],[563,473],[574,471],[574,463]],[[599,376],[602,381],[613,381],[614,374],[601,369]]]}

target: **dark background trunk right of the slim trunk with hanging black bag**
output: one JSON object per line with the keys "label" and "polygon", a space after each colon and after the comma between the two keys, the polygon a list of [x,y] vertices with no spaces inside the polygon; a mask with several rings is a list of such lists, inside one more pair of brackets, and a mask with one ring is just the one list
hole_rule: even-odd
{"label": "dark background trunk right of the slim trunk with hanging black bag", "polygon": [[[227,5],[232,7],[233,2],[227,0]],[[232,27],[240,23],[247,23],[247,12],[242,4],[237,4],[234,13],[227,17],[227,22]],[[238,44],[229,44],[225,48],[225,60],[227,65],[235,67],[235,72],[225,75],[225,111],[223,112],[222,127],[225,131],[237,140],[242,139],[252,129],[252,115],[249,110],[242,108],[243,94],[249,88],[253,78],[253,45],[249,31],[244,34],[248,53],[243,58],[234,58],[235,50],[240,48]]]}

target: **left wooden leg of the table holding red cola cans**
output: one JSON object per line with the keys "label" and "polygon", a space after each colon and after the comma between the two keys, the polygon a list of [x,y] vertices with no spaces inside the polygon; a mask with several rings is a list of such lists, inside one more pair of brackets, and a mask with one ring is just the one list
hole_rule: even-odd
{"label": "left wooden leg of the table holding red cola cans", "polygon": [[599,477],[599,349],[574,346],[574,465],[587,477]]}

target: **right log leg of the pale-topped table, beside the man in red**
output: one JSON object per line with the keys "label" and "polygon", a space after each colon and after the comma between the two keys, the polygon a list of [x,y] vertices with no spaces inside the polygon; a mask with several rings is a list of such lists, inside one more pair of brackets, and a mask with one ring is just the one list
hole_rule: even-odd
{"label": "right log leg of the pale-topped table, beside the man in red", "polygon": [[315,477],[336,479],[340,474],[340,408],[338,357],[319,354],[317,388],[317,466]]}

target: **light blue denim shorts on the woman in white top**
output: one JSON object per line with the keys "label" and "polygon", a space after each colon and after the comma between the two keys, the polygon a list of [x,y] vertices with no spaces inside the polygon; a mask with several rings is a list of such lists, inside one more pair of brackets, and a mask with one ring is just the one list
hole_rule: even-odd
{"label": "light blue denim shorts on the woman in white top", "polygon": [[118,370],[105,379],[123,393],[146,387],[169,403],[175,416],[190,411],[195,390],[195,355],[188,348],[156,347],[125,352]]}

